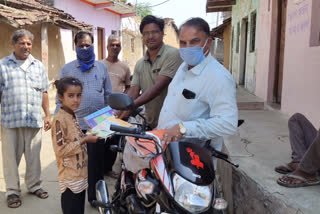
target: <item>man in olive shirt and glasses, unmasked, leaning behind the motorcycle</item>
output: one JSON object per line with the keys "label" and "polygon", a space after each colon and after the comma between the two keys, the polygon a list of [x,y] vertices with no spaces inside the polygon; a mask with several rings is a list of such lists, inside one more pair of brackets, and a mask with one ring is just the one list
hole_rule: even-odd
{"label": "man in olive shirt and glasses, unmasked, leaning behind the motorcycle", "polygon": [[[127,93],[134,100],[134,107],[145,105],[147,122],[151,128],[158,124],[168,85],[182,63],[178,49],[163,43],[163,29],[163,19],[152,15],[142,19],[140,32],[148,50],[136,63]],[[130,116],[130,111],[117,112],[117,116],[126,119]]]}

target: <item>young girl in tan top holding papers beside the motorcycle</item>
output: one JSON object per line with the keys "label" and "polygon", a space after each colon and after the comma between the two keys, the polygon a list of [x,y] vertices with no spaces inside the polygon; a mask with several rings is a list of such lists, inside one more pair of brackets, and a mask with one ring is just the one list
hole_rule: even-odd
{"label": "young girl in tan top holding papers beside the motorcycle", "polygon": [[64,214],[83,214],[88,187],[88,158],[85,143],[98,137],[84,135],[74,111],[80,106],[82,84],[73,77],[55,81],[62,107],[52,122],[52,144],[59,169],[61,207]]}

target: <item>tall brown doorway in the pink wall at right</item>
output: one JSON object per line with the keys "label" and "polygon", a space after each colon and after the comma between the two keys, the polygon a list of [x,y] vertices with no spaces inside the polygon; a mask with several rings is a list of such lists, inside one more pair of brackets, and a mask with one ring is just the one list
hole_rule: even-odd
{"label": "tall brown doorway in the pink wall at right", "polygon": [[273,87],[273,102],[281,105],[282,82],[283,82],[283,64],[287,17],[287,0],[277,0],[278,19],[277,19],[277,51],[276,67]]}

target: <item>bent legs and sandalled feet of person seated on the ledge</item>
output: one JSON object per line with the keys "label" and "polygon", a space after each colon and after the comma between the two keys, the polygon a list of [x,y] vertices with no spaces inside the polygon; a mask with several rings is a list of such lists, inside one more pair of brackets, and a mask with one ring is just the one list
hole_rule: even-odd
{"label": "bent legs and sandalled feet of person seated on the ledge", "polygon": [[288,127],[292,160],[275,168],[276,172],[286,174],[277,183],[285,187],[319,185],[317,172],[320,170],[320,131],[300,113],[291,116]]}

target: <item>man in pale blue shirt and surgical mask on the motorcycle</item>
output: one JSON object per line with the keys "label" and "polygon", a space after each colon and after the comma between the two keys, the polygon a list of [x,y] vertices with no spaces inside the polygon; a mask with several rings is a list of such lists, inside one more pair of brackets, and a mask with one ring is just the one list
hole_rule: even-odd
{"label": "man in pale blue shirt and surgical mask on the motorcycle", "polygon": [[209,25],[192,18],[179,29],[183,63],[168,88],[157,129],[167,129],[162,143],[183,135],[210,140],[218,150],[223,136],[237,130],[236,84],[210,54]]}

